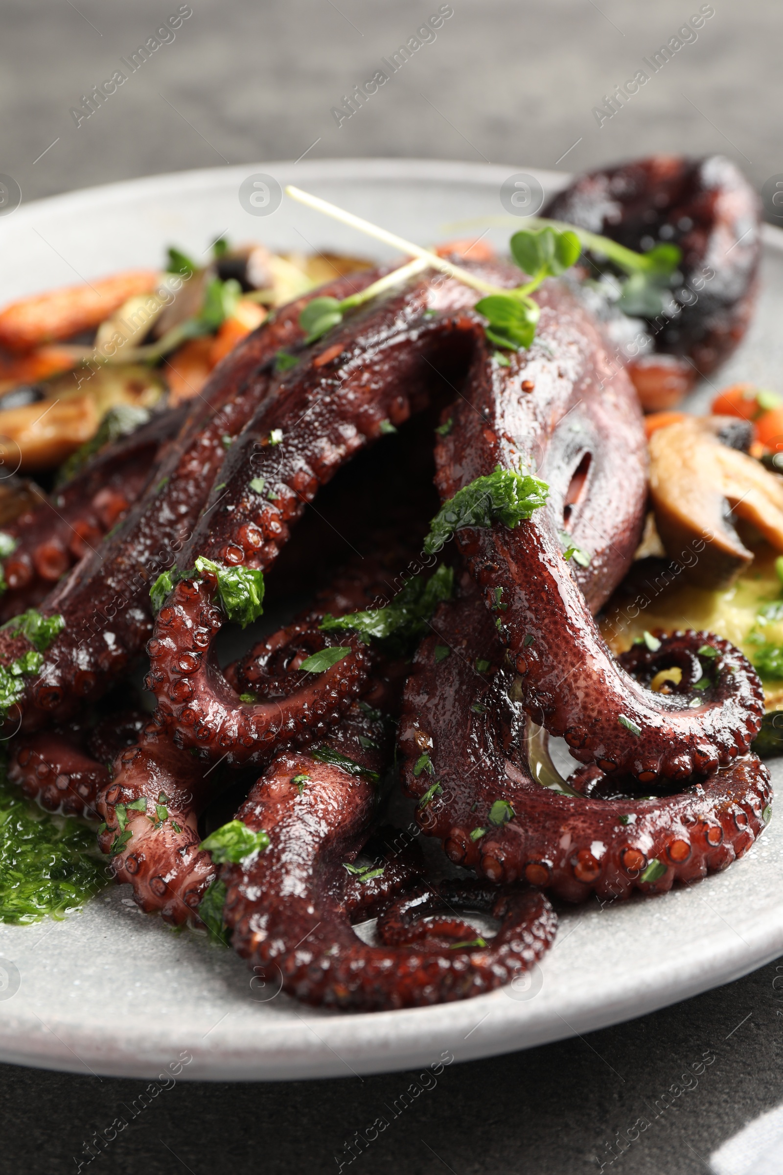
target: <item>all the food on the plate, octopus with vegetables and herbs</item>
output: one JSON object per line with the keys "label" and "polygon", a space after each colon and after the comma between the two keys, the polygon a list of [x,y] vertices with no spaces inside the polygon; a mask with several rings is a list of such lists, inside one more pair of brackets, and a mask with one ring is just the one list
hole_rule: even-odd
{"label": "all the food on the plate, octopus with vegetables and herbs", "polygon": [[653,156],[499,256],[288,195],[400,260],[221,240],[0,309],[0,920],[117,882],[306,1003],[466,999],[771,818],[783,397],[681,407],[760,202]]}

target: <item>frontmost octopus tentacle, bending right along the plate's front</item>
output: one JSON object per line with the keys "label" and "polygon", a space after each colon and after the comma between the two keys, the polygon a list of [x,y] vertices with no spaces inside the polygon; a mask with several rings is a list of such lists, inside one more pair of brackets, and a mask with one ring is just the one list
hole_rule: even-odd
{"label": "frontmost octopus tentacle, bending right along the plate's front", "polygon": [[[356,731],[356,726],[355,726]],[[377,738],[383,731],[374,731]],[[358,743],[344,723],[332,741],[355,763],[378,770],[383,758]],[[302,791],[293,778],[308,774]],[[500,895],[504,924],[488,946],[451,940],[446,946],[367,946],[345,911],[345,871],[366,839],[374,785],[308,754],[283,752],[256,784],[238,817],[270,837],[265,852],[224,866],[224,919],[232,945],[251,966],[279,968],[283,989],[310,1003],[362,1010],[417,1007],[488,992],[527,969],[551,944],[555,915],[542,895]],[[393,938],[411,915],[448,908],[448,892],[417,892],[392,906],[385,933]],[[466,897],[475,907],[479,895]]]}

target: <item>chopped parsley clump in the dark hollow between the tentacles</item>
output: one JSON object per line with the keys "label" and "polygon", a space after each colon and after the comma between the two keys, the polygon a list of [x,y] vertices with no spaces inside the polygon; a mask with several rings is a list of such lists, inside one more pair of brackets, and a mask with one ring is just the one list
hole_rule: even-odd
{"label": "chopped parsley clump in the dark hollow between the tentacles", "polygon": [[453,570],[441,565],[426,580],[423,576],[412,576],[384,607],[325,616],[320,627],[324,632],[352,629],[367,644],[372,639],[393,639],[396,649],[407,646],[427,631],[427,620],[438,604],[451,599],[453,583]]}

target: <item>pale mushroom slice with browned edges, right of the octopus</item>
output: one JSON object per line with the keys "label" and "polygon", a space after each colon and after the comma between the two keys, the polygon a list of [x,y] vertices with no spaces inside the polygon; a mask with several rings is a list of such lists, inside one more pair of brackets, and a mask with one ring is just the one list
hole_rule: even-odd
{"label": "pale mushroom slice with browned edges, right of the octopus", "polygon": [[655,525],[667,555],[700,588],[728,588],[754,558],[734,526],[750,523],[783,551],[783,478],[721,443],[722,417],[689,416],[649,441]]}

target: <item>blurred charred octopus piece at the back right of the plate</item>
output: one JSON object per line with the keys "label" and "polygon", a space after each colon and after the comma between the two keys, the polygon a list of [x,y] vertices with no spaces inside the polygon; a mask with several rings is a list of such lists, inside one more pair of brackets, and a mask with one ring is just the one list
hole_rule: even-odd
{"label": "blurred charred octopus piece at the back right of the plate", "polygon": [[545,215],[642,253],[661,242],[680,247],[674,306],[650,320],[656,351],[691,360],[708,375],[743,337],[756,291],[761,206],[728,159],[653,155],[590,172],[556,195]]}

